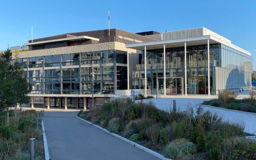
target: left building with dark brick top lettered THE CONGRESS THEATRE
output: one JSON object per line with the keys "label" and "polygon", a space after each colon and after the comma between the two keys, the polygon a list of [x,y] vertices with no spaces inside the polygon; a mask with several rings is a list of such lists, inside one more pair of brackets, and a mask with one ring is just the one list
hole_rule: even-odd
{"label": "left building with dark brick top lettered THE CONGRESS THEATRE", "polygon": [[92,92],[96,106],[127,90],[139,55],[130,50],[128,56],[125,44],[154,40],[118,29],[67,33],[30,40],[29,51],[13,57],[30,83],[30,106],[83,108],[92,106]]}

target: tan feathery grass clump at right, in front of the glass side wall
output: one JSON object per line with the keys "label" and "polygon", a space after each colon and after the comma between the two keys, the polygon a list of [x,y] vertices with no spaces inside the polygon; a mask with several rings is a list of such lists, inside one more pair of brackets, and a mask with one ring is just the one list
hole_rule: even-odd
{"label": "tan feathery grass clump at right, in front of the glass side wall", "polygon": [[236,97],[237,94],[234,91],[230,90],[223,90],[218,94],[218,99],[224,103],[224,106],[226,106],[229,103],[232,103],[236,99]]}

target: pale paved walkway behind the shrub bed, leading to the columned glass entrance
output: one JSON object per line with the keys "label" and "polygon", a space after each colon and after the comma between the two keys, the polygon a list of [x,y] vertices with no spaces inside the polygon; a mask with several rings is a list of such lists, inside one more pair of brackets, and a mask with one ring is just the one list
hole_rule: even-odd
{"label": "pale paved walkway behind the shrub bed, leading to the columned glass entrance", "polygon": [[[204,100],[209,100],[208,98],[152,98],[151,99],[157,108],[161,110],[170,110],[173,106],[173,100],[176,100],[176,106],[178,110],[186,110],[188,107],[192,106],[194,109],[202,104]],[[149,102],[149,99],[143,100],[144,102]],[[139,101],[136,101],[139,102]],[[204,110],[209,110],[212,113],[217,113],[222,116],[224,121],[242,123],[244,124],[244,132],[250,134],[256,134],[256,114],[250,112],[242,112],[237,110],[229,110],[225,108],[203,106]]]}

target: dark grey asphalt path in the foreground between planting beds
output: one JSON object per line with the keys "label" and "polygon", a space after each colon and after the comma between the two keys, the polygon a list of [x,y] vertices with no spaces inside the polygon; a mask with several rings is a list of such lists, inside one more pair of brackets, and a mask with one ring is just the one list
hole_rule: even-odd
{"label": "dark grey asphalt path in the foreground between planting beds", "polygon": [[158,160],[76,117],[77,112],[45,112],[52,160]]}

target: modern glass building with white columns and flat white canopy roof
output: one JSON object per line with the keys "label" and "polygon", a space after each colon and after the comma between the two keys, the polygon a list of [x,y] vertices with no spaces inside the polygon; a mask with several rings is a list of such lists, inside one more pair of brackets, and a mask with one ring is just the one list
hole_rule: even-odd
{"label": "modern glass building with white columns and flat white canopy roof", "polygon": [[218,94],[250,90],[252,56],[207,28],[148,35],[158,41],[126,44],[140,50],[132,89],[147,94]]}

